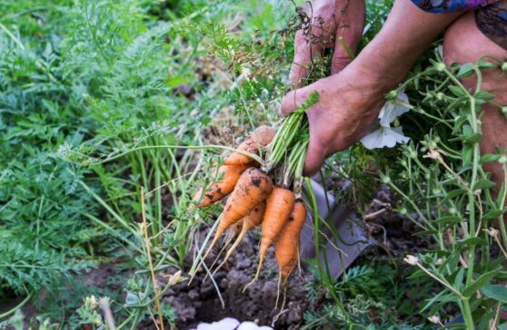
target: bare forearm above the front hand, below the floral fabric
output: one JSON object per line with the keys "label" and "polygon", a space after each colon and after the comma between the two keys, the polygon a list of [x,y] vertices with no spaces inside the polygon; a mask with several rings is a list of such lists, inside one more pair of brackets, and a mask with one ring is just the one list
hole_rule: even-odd
{"label": "bare forearm above the front hand, below the floral fabric", "polygon": [[383,28],[356,61],[379,92],[403,81],[424,50],[462,12],[426,13],[410,0],[397,0]]}

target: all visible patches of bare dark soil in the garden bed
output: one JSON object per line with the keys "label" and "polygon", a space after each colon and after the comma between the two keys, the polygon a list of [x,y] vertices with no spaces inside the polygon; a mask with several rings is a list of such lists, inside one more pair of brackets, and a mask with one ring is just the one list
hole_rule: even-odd
{"label": "all visible patches of bare dark soil in the garden bed", "polygon": [[[375,198],[378,202],[373,202],[370,212],[383,209],[386,204],[393,204],[390,191],[385,187],[378,190]],[[427,238],[413,235],[417,228],[408,218],[391,210],[365,221],[365,226],[377,247],[365,250],[361,259],[399,258],[406,253],[415,254],[432,246]],[[200,246],[206,233],[207,230],[201,232]],[[224,299],[224,307],[212,281],[204,279],[203,269],[196,274],[190,285],[188,280],[184,280],[165,293],[164,303],[172,306],[177,315],[176,329],[194,329],[200,323],[211,323],[224,317],[234,317],[241,322],[254,321],[258,325],[270,325],[275,329],[298,329],[303,324],[305,312],[319,311],[326,301],[329,302],[324,291],[319,292],[316,298],[308,298],[310,288],[307,284],[313,280],[313,276],[303,267],[301,270],[296,269],[289,277],[286,303],[283,313],[280,313],[280,309],[275,308],[275,302],[277,292],[280,292],[279,306],[281,305],[283,288],[277,289],[278,267],[273,247],[268,250],[260,278],[243,293],[244,286],[252,280],[256,271],[258,242],[258,232],[249,233],[229,261],[214,275],[216,286]],[[214,248],[214,252],[206,259],[206,265],[213,262],[220,248],[222,247]],[[222,259],[219,258],[218,262],[221,263]],[[192,263],[192,258],[188,257],[186,269],[190,269]],[[176,269],[168,269],[165,274],[161,274],[158,278],[160,286],[164,286],[168,280],[164,275],[174,274],[175,271]],[[107,283],[107,278],[113,274],[117,274],[114,265],[104,264],[83,274],[82,278],[86,286],[108,286],[118,291],[119,287],[109,287],[111,284]],[[183,276],[189,278],[188,274]],[[10,305],[14,306],[15,302]],[[5,307],[0,306],[0,310]],[[27,304],[23,310],[27,319],[36,314],[32,304]],[[278,317],[273,325],[276,315]],[[154,329],[154,325],[151,320],[147,320],[139,328]]]}

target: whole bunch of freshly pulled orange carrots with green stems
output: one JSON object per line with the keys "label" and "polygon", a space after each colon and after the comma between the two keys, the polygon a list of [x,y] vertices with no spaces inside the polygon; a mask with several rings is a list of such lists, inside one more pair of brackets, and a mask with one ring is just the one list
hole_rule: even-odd
{"label": "whole bunch of freshly pulled orange carrots with green stems", "polygon": [[279,283],[286,283],[299,260],[299,237],[306,218],[301,189],[308,144],[304,110],[317,101],[318,94],[313,93],[300,109],[283,119],[278,130],[268,126],[254,130],[225,158],[214,183],[196,193],[199,208],[230,195],[201,263],[228,228],[234,228],[237,238],[216,269],[224,265],[249,230],[261,226],[259,265],[252,283],[273,243]]}

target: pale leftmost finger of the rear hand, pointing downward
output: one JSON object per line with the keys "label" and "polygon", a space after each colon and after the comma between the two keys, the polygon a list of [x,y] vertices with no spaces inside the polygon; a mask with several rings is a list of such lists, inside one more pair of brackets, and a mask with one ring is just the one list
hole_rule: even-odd
{"label": "pale leftmost finger of the rear hand, pointing downward", "polygon": [[294,60],[289,73],[289,80],[294,88],[303,85],[303,80],[308,76],[308,68],[312,63],[312,56],[321,53],[323,47],[319,44],[308,44],[307,36],[303,30],[299,30],[294,39]]}

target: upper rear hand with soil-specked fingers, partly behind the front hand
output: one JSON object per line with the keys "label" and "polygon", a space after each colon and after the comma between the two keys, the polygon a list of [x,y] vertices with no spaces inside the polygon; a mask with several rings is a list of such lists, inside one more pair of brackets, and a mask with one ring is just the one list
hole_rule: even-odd
{"label": "upper rear hand with soil-specked fingers, partly behind the front hand", "polygon": [[331,72],[339,73],[352,60],[340,44],[354,53],[364,28],[364,0],[316,0],[305,10],[308,22],[295,35],[294,60],[289,78],[293,86],[301,87],[301,80],[308,75],[312,56],[322,53],[325,48],[333,48]]}

